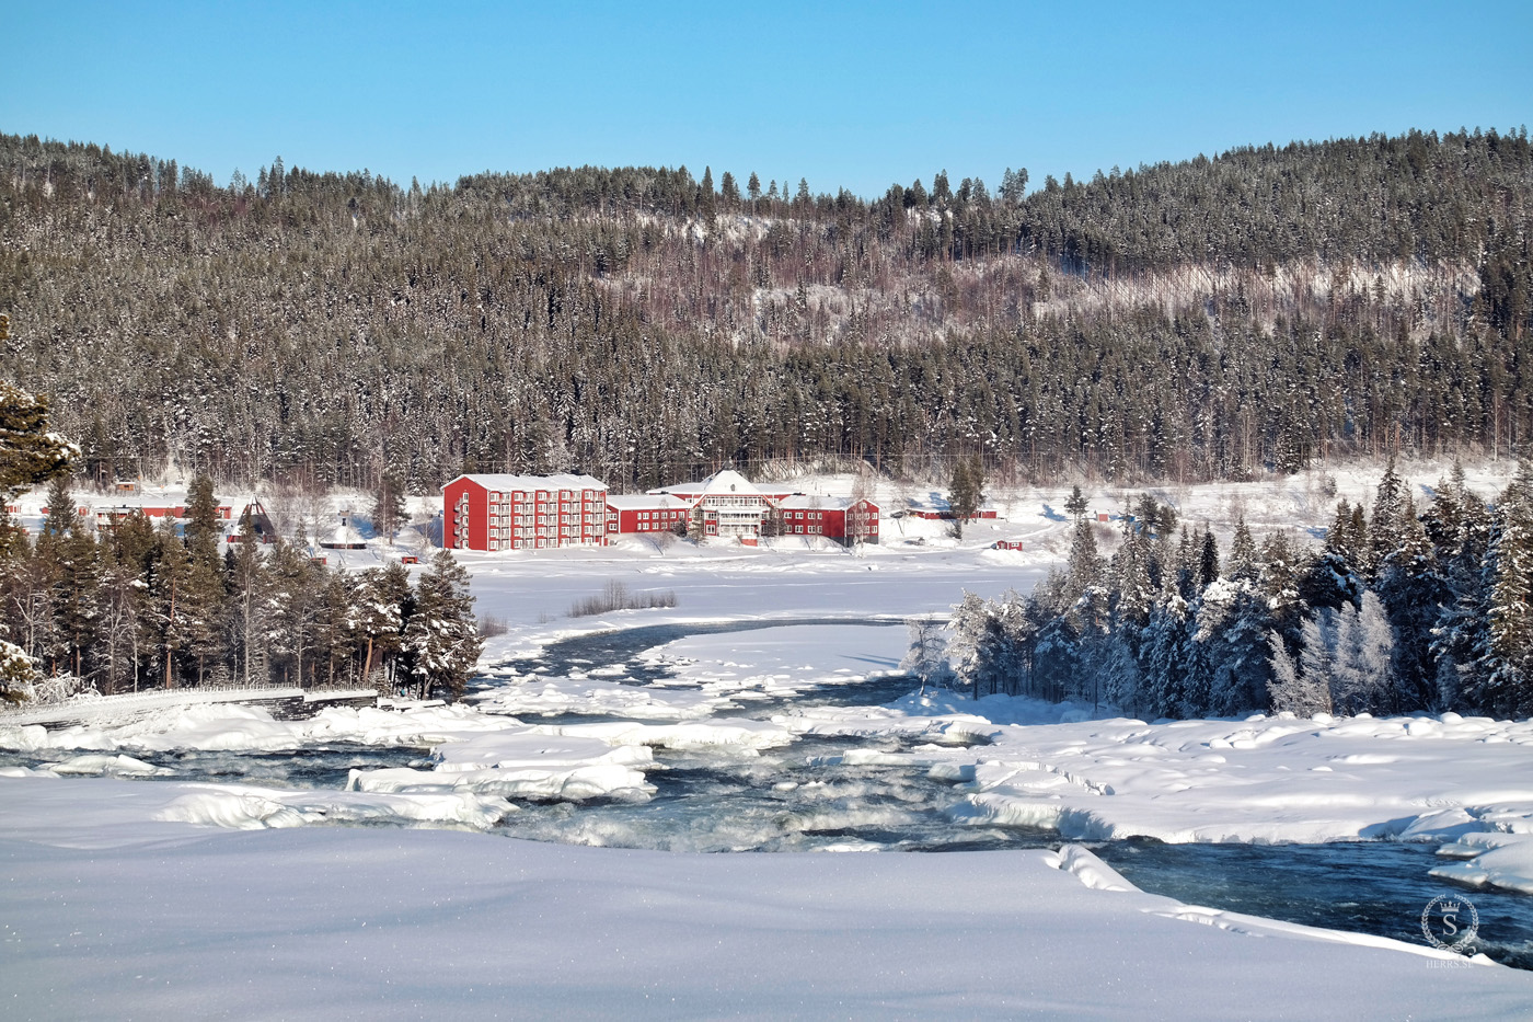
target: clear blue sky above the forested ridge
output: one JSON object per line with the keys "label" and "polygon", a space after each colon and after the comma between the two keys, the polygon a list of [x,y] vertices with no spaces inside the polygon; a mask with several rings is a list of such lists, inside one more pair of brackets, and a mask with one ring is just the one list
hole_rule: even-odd
{"label": "clear blue sky above the forested ridge", "polygon": [[402,184],[564,164],[878,195],[1533,120],[1533,3],[23,3],[0,130]]}

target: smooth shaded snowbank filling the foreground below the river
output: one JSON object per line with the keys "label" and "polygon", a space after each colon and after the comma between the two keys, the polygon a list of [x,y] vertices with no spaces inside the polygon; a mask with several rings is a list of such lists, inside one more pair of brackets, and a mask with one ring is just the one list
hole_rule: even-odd
{"label": "smooth shaded snowbank filling the foreground below the river", "polygon": [[[94,784],[127,783],[35,787]],[[1524,1019],[1533,1004],[1528,973],[1088,887],[1110,878],[1088,853],[1059,869],[1047,852],[667,855],[357,829],[74,850],[12,830],[8,815],[18,1016]]]}

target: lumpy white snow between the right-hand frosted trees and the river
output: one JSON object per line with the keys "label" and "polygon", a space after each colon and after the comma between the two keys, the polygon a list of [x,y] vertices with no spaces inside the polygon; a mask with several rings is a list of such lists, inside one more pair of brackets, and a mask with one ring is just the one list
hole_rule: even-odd
{"label": "lumpy white snow between the right-hand frosted trees and the river", "polygon": [[957,823],[1041,826],[1078,841],[1443,841],[1464,861],[1435,876],[1533,893],[1533,721],[1280,714],[1061,723],[1087,712],[934,695],[777,720],[797,734],[989,738],[885,758],[909,757],[967,783]]}

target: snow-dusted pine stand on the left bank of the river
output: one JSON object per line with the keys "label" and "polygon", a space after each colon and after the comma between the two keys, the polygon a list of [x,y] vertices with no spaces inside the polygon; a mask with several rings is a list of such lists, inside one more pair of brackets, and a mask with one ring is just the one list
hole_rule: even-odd
{"label": "snow-dusted pine stand on the left bank of the river", "polygon": [[[193,686],[366,687],[461,695],[483,646],[469,575],[448,551],[411,583],[399,560],[348,572],[307,539],[233,542],[213,483],[182,526],[133,511],[92,529],[67,466],[35,537],[0,522],[0,704]],[[219,548],[224,552],[219,552]]]}

